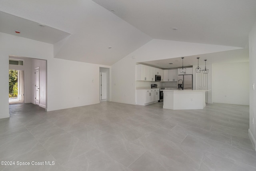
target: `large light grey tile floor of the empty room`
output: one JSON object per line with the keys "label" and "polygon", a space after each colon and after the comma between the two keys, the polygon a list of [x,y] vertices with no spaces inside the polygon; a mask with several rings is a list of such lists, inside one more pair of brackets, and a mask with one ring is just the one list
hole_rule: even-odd
{"label": "large light grey tile floor of the empty room", "polygon": [[96,105],[45,112],[10,105],[0,119],[0,171],[255,171],[249,107],[207,104],[202,110],[162,103]]}

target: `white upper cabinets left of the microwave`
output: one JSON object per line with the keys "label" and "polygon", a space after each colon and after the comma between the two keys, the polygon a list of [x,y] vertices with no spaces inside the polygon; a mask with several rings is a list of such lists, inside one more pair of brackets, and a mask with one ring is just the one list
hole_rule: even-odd
{"label": "white upper cabinets left of the microwave", "polygon": [[155,81],[155,68],[145,65],[136,65],[136,81]]}

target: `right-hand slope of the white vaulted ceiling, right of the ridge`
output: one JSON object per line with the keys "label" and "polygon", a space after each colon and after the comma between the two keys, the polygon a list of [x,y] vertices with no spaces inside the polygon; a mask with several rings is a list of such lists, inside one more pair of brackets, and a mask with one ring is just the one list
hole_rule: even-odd
{"label": "right-hand slope of the white vaulted ceiling, right of the ridge", "polygon": [[243,48],[256,20],[256,0],[93,1],[152,38],[181,42]]}

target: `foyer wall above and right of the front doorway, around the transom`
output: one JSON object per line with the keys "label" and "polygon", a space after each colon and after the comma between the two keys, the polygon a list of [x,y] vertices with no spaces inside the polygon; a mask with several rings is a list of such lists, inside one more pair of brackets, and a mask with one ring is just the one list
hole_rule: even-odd
{"label": "foyer wall above and right of the front doorway, around the transom", "polygon": [[31,59],[14,56],[10,56],[10,59],[24,60],[23,66],[9,65],[9,69],[24,71],[24,103],[31,103]]}

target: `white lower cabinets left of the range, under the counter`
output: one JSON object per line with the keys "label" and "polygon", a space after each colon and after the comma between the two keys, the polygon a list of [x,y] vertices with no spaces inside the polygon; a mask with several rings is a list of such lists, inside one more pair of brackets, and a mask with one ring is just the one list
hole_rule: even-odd
{"label": "white lower cabinets left of the range, under the counter", "polygon": [[137,105],[149,105],[160,99],[159,89],[137,89]]}

